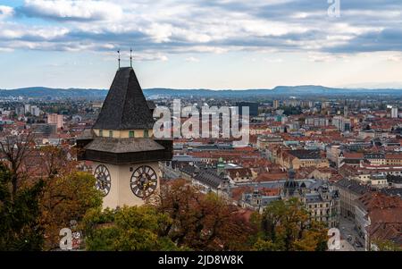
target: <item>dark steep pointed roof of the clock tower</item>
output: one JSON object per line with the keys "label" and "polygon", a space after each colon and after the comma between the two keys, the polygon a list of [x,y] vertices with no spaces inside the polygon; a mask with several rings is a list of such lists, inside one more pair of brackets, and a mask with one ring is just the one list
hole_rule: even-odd
{"label": "dark steep pointed roof of the clock tower", "polygon": [[154,118],[139,86],[136,73],[131,67],[120,68],[114,76],[93,128],[149,130],[153,126]]}

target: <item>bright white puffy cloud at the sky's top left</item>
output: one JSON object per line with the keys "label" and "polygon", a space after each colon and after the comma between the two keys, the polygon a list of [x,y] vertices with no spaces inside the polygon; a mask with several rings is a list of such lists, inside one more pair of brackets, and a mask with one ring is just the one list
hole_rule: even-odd
{"label": "bright white puffy cloud at the sky's top left", "polygon": [[119,5],[93,0],[26,0],[19,12],[60,21],[108,21],[122,16]]}

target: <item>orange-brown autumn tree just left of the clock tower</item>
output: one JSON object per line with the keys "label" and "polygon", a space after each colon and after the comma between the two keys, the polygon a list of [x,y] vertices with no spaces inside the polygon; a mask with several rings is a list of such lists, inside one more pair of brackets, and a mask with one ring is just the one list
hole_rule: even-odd
{"label": "orange-brown autumn tree just left of the clock tower", "polygon": [[96,179],[77,171],[73,154],[71,148],[63,145],[45,146],[25,160],[36,164],[29,167],[31,177],[44,182],[39,223],[45,231],[45,249],[57,248],[62,228],[69,227],[71,221],[80,222],[89,208],[102,205],[102,194],[94,188]]}

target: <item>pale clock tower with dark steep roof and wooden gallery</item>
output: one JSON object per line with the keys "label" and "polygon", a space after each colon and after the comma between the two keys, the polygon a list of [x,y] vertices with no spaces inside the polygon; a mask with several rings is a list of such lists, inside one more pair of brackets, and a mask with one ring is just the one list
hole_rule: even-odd
{"label": "pale clock tower with dark steep roof and wooden gallery", "polygon": [[159,190],[159,162],[172,159],[172,139],[155,139],[153,126],[134,70],[119,68],[94,126],[77,139],[78,159],[91,161],[104,208],[141,206]]}

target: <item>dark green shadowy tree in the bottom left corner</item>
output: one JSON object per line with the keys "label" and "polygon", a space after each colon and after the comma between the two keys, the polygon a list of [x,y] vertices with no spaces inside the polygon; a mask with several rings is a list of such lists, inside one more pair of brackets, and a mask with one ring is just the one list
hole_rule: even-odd
{"label": "dark green shadowy tree in the bottom left corner", "polygon": [[0,164],[0,250],[40,250],[44,233],[38,223],[38,198],[44,182],[13,189],[15,175]]}

